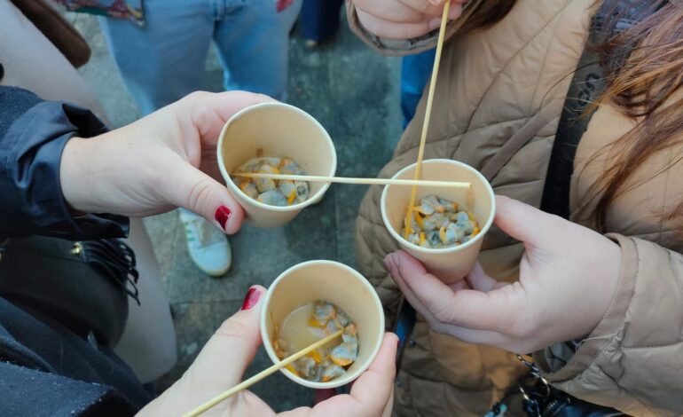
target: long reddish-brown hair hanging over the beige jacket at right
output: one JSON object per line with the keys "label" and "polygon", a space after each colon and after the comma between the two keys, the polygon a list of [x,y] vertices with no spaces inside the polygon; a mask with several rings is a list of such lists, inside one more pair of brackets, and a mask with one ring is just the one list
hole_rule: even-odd
{"label": "long reddish-brown hair hanging over the beige jacket at right", "polygon": [[[683,144],[683,1],[604,0],[603,6],[609,11],[602,22],[608,30],[593,40],[593,47],[607,86],[593,109],[608,103],[635,122],[632,130],[586,164],[609,153],[611,163],[589,190],[597,202],[590,205],[591,213],[585,213],[595,219],[599,231],[606,232],[612,201],[683,160],[683,151],[672,154],[649,177],[626,185],[632,172],[654,153]],[[633,20],[634,13],[638,20]],[[622,30],[624,22],[630,27]],[[678,219],[683,216],[683,202],[672,212],[656,215]]]}

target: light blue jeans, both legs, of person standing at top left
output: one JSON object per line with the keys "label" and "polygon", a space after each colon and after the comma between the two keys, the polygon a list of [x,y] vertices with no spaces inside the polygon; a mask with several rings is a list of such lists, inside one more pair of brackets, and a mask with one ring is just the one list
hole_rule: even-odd
{"label": "light blue jeans, both legs, of person standing at top left", "polygon": [[143,114],[204,90],[213,40],[225,90],[284,99],[288,35],[302,0],[145,0],[146,25],[100,18],[123,80]]}

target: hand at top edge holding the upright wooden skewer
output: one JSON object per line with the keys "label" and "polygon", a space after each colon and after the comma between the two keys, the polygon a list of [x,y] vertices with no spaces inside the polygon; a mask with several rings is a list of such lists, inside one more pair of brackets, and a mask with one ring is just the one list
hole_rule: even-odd
{"label": "hand at top edge holding the upright wooden skewer", "polygon": [[[448,18],[457,19],[467,0],[450,0]],[[441,25],[446,0],[353,0],[365,29],[386,39],[412,39]]]}

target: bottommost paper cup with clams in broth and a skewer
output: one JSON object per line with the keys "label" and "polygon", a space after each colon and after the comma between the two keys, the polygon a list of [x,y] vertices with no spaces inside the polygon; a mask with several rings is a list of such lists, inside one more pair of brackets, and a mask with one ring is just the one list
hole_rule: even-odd
{"label": "bottommost paper cup with clams in broth and a skewer", "polygon": [[[334,310],[331,310],[333,306]],[[307,309],[315,311],[314,314],[306,313],[301,319],[295,317]],[[314,353],[311,358],[304,357],[300,359],[301,363],[297,361],[293,367],[280,370],[290,380],[313,389],[340,387],[356,380],[380,351],[384,337],[384,312],[373,287],[363,275],[349,266],[333,261],[310,261],[293,266],[272,283],[263,301],[261,313],[263,347],[273,363],[278,363],[282,358],[279,350],[288,349],[285,354],[287,357],[325,337],[322,335],[324,330],[321,330],[319,337],[314,336],[306,341],[288,338],[289,347],[283,348],[279,343],[283,337],[287,339],[283,336],[286,327],[298,327],[290,328],[288,333],[307,339],[310,338],[308,327],[314,327],[315,330],[318,327],[315,318],[319,319],[319,315],[325,314],[333,316],[327,326],[334,326],[334,322],[342,321],[341,325],[337,325],[340,328],[354,327],[357,350],[352,361],[346,360],[342,348],[349,344],[349,340],[345,332],[342,336],[343,343],[342,338],[333,343],[341,348],[333,350],[333,347],[329,347],[327,353]],[[334,331],[330,334],[334,334]],[[342,353],[338,350],[342,350]],[[326,356],[331,358],[328,365]],[[301,366],[305,366],[305,359],[310,360],[311,364],[304,370]],[[326,375],[329,369],[337,369],[339,372],[330,374],[331,377]],[[318,377],[315,375],[316,370]]]}

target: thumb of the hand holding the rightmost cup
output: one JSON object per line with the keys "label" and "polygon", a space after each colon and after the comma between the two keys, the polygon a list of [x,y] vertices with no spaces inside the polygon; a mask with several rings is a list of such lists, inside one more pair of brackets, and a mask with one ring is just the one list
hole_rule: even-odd
{"label": "thumb of the hand holding the rightmost cup", "polygon": [[[522,201],[517,201],[503,195],[496,195],[497,224],[503,232],[516,240],[521,240],[524,246],[541,246],[564,222],[558,222],[560,217],[550,215]],[[541,231],[541,232],[539,232]],[[551,233],[553,232],[553,233]]]}

